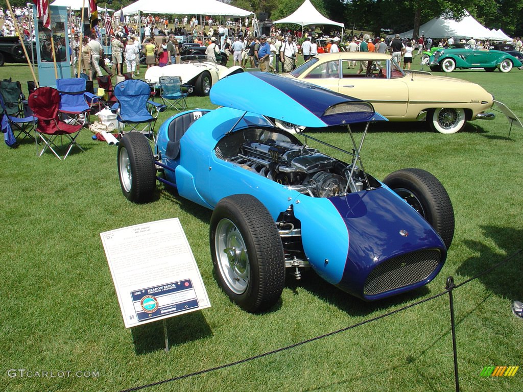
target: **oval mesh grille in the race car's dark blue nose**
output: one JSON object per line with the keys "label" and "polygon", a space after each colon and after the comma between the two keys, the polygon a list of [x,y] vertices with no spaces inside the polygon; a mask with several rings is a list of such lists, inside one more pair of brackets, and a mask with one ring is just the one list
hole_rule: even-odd
{"label": "oval mesh grille in the race car's dark blue nose", "polygon": [[423,281],[436,270],[440,259],[439,249],[425,249],[386,260],[369,274],[363,294],[381,294]]}

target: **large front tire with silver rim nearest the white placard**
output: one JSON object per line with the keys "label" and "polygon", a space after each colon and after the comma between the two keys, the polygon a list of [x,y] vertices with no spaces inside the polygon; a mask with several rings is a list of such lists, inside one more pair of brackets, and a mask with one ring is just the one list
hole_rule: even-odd
{"label": "large front tire with silver rim nearest the white placard", "polygon": [[274,306],[285,286],[285,259],[278,229],[261,202],[248,194],[220,200],[210,225],[212,263],[218,283],[247,312]]}

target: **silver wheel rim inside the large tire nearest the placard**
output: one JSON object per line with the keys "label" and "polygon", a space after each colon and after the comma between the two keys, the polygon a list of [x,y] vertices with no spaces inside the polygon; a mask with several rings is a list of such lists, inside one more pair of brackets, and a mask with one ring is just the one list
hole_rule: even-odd
{"label": "silver wheel rim inside the large tire nearest the placard", "polygon": [[225,283],[233,293],[243,294],[249,284],[249,257],[240,230],[229,219],[216,227],[215,252]]}

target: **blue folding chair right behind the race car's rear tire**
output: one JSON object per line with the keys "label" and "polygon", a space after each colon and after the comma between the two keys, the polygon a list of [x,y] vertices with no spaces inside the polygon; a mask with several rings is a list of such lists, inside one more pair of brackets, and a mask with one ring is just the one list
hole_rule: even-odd
{"label": "blue folding chair right behind the race car's rear tire", "polygon": [[[118,132],[123,134],[125,125],[131,131],[149,135],[154,140],[154,124],[165,105],[149,100],[151,87],[140,79],[123,80],[115,86],[117,103],[111,107],[117,113]],[[153,116],[154,113],[154,116]],[[142,125],[145,125],[141,128]]]}

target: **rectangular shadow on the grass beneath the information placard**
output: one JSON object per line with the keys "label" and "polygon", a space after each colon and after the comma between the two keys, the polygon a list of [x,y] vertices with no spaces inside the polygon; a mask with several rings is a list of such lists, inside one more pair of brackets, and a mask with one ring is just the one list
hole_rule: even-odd
{"label": "rectangular shadow on the grass beneath the information placard", "polygon": [[[183,344],[212,335],[200,310],[165,319],[170,346]],[[134,351],[137,355],[165,349],[163,320],[131,328]]]}

